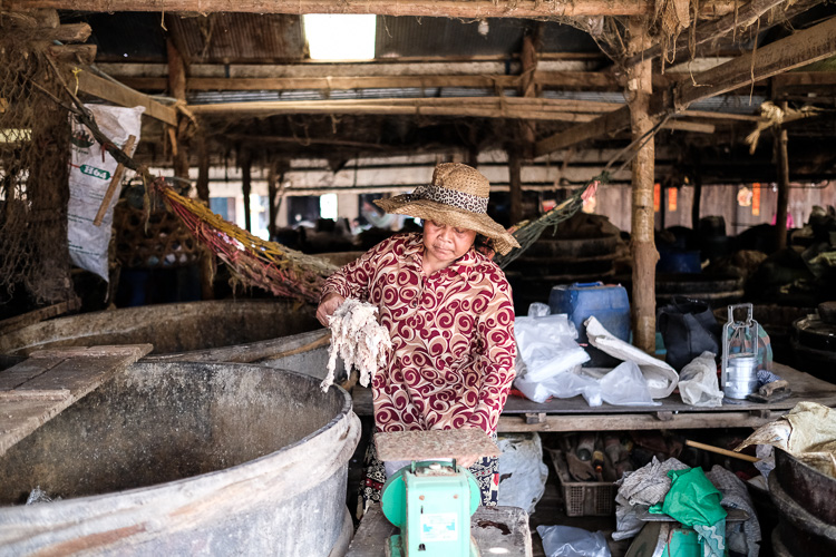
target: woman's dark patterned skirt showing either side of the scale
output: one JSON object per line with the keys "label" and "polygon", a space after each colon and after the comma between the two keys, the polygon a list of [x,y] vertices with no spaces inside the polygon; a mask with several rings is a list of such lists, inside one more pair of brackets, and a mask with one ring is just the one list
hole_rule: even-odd
{"label": "woman's dark patterned skirt showing either side of the scale", "polygon": [[[496,433],[493,434],[496,442]],[[380,491],[386,483],[386,468],[378,459],[375,441],[369,442],[363,459],[364,475],[360,483],[358,497],[357,518],[360,519],[372,504],[380,504]],[[499,459],[498,457],[485,457],[477,460],[470,468],[470,473],[476,478],[482,495],[482,505],[495,507],[499,500]]]}

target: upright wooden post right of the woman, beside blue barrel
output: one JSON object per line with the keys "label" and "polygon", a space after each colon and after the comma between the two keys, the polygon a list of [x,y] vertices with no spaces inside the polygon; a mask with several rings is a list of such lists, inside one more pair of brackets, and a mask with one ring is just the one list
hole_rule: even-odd
{"label": "upright wooden post right of the woman, beside blue barrel", "polygon": [[[648,48],[649,33],[644,20],[629,23],[630,50]],[[630,100],[630,124],[633,139],[642,138],[653,128],[650,97],[653,92],[651,60],[628,68],[626,97]],[[652,353],[655,350],[655,266],[659,261],[653,241],[653,184],[655,141],[650,138],[633,160],[632,252],[633,252],[633,344]]]}

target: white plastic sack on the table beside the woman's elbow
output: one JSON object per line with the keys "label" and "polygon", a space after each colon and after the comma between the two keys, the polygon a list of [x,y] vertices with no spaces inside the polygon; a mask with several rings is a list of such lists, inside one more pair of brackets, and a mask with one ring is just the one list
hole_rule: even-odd
{"label": "white plastic sack on the table beside the woman's elbow", "polygon": [[589,361],[577,345],[577,330],[565,313],[542,317],[516,317],[514,338],[517,358],[523,361],[527,381],[543,381]]}

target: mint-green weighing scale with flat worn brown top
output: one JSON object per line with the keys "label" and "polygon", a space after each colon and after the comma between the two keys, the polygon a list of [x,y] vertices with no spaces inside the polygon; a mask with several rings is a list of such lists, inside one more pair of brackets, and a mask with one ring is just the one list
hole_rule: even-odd
{"label": "mint-green weighing scale with flat worn brown top", "polygon": [[453,458],[496,457],[496,443],[482,430],[465,429],[378,433],[375,444],[381,461],[409,461],[387,480],[380,498],[383,515],[400,528],[386,544],[387,557],[479,557],[470,536],[479,486]]}

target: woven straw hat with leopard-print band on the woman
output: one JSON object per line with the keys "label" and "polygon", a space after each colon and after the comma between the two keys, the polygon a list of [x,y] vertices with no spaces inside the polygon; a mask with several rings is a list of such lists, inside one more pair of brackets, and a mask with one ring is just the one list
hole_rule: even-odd
{"label": "woven straw hat with leopard-print band on the woman", "polygon": [[432,183],[418,186],[411,194],[377,199],[387,213],[467,228],[494,241],[497,253],[505,255],[517,241],[487,216],[490,183],[478,170],[460,163],[443,163],[432,173]]}

